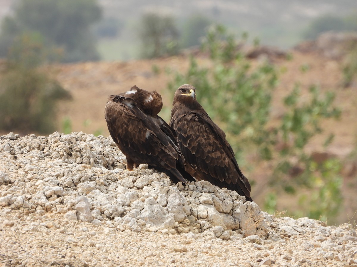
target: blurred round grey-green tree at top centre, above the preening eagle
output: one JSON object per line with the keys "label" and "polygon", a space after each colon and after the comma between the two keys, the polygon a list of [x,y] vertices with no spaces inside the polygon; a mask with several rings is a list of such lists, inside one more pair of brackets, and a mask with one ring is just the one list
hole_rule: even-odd
{"label": "blurred round grey-green tree at top centre, above the preening eagle", "polygon": [[177,54],[178,37],[179,33],[172,16],[148,13],[142,17],[139,38],[143,57]]}

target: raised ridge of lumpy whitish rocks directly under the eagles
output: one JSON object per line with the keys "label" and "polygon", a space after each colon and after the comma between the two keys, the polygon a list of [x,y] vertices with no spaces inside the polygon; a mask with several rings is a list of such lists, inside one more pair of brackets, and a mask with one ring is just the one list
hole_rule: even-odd
{"label": "raised ridge of lumpy whitish rocks directly under the eagles", "polygon": [[[173,184],[164,173],[140,165],[124,170],[125,156],[111,138],[82,132],[1,138],[0,205],[30,213],[64,213],[99,223],[111,220],[131,231],[202,232],[227,239],[268,234],[254,202],[209,182]],[[76,215],[76,216],[74,216]]]}

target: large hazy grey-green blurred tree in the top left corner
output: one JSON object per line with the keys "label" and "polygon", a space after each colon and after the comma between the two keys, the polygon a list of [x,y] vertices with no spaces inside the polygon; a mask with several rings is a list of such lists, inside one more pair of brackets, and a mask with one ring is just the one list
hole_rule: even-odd
{"label": "large hazy grey-green blurred tree in the top left corner", "polygon": [[46,47],[63,50],[63,62],[98,60],[90,26],[100,18],[95,0],[21,0],[14,16],[2,21],[0,56],[6,56],[16,37],[38,32]]}

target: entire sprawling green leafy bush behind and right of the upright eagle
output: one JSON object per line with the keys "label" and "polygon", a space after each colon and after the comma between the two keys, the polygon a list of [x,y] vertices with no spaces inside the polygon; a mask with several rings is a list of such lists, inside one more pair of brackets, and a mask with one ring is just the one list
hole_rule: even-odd
{"label": "entire sprawling green leafy bush behind and right of the upright eagle", "polygon": [[[249,164],[246,168],[253,169],[262,161],[272,166],[267,174],[271,187],[266,196],[267,209],[275,208],[279,202],[275,192],[283,190],[299,195],[301,188],[307,188],[314,193],[310,195],[311,202],[302,201],[305,210],[300,215],[317,219],[336,216],[341,204],[341,178],[335,175],[338,162],[316,165],[304,150],[311,138],[323,131],[323,119],[339,117],[340,111],[333,106],[335,95],[331,92],[322,94],[312,85],[308,100],[302,101],[300,87],[296,84],[284,99],[285,112],[281,121],[272,125],[269,123],[271,99],[279,72],[267,61],[253,67],[237,49],[237,44],[235,37],[224,27],[211,27],[202,44],[203,50],[210,54],[211,62],[207,64],[210,67],[200,67],[191,58],[188,72],[175,73],[169,89],[175,90],[186,83],[197,88],[197,100],[226,132],[241,166]],[[329,136],[326,146],[332,138]],[[254,160],[245,162],[245,158]],[[317,167],[312,168],[314,164]],[[291,179],[296,169],[298,172]],[[320,180],[323,182],[318,183]],[[328,210],[323,203],[333,209]],[[292,210],[290,214],[294,212]]]}

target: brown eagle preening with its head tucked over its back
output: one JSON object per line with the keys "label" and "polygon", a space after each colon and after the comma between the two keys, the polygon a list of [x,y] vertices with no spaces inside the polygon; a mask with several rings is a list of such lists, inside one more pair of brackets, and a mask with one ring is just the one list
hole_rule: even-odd
{"label": "brown eagle preening with its head tucked over its back", "polygon": [[129,171],[147,163],[175,182],[194,181],[185,171],[185,158],[178,148],[174,130],[157,115],[161,108],[159,93],[136,85],[130,91],[111,95],[105,106],[109,133],[126,156]]}

